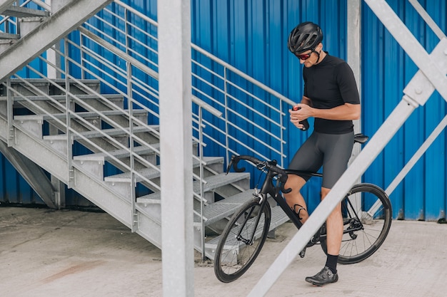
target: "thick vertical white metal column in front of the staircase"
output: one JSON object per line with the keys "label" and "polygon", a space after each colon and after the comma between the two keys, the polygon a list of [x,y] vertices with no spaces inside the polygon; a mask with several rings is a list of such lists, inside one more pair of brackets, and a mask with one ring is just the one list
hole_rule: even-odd
{"label": "thick vertical white metal column in front of the staircase", "polygon": [[194,296],[190,5],[158,1],[163,296]]}

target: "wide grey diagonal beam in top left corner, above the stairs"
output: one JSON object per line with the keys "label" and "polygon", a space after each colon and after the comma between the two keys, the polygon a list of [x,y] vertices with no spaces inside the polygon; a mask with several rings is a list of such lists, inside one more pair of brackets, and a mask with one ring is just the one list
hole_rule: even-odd
{"label": "wide grey diagonal beam in top left corner, above the stairs", "polygon": [[0,56],[0,81],[15,73],[112,0],[71,0]]}

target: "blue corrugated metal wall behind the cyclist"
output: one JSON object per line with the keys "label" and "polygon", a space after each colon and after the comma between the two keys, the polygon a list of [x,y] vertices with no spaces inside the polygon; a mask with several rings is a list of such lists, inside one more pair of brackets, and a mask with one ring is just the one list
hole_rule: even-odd
{"label": "blue corrugated metal wall behind the cyclist", "polygon": [[[156,15],[156,1],[129,0],[131,6]],[[433,20],[446,32],[446,1],[420,0]],[[406,0],[388,4],[430,52],[438,43],[425,22]],[[401,100],[402,90],[418,68],[362,2],[362,132],[373,135]],[[191,0],[192,42],[210,51],[269,87],[299,100],[303,92],[301,65],[287,51],[289,31],[301,21],[321,25],[323,44],[331,55],[346,59],[346,1],[332,0]],[[363,179],[386,188],[446,114],[446,102],[438,93],[418,108],[396,137],[368,169]],[[286,155],[293,156],[308,136],[288,127]],[[443,132],[391,194],[394,217],[438,219],[446,211],[446,135]],[[4,201],[34,201],[33,192],[2,159],[0,189]],[[14,178],[11,178],[14,177]],[[11,180],[13,179],[13,180]],[[306,194],[315,195],[318,181]],[[17,196],[19,198],[14,198]],[[24,197],[26,196],[26,197]],[[318,199],[309,202],[316,205]]]}

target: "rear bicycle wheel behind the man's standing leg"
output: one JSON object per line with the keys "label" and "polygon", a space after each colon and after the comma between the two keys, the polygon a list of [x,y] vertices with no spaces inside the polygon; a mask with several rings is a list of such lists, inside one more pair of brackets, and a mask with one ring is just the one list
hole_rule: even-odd
{"label": "rear bicycle wheel behind the man's standing leg", "polygon": [[[375,184],[363,183],[354,185],[341,205],[344,226],[338,263],[358,263],[374,254],[385,241],[392,221],[391,202],[383,189]],[[361,230],[348,231],[360,226],[353,214],[354,209],[363,227]],[[347,224],[348,221],[351,223]],[[321,239],[320,243],[321,249],[327,254],[326,238]]]}

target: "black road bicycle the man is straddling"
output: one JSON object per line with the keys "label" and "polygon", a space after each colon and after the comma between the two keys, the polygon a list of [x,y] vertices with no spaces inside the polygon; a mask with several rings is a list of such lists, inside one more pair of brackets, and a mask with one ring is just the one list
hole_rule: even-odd
{"label": "black road bicycle the man is straddling", "polygon": [[[354,141],[364,143],[365,135],[357,134]],[[316,172],[283,170],[275,160],[261,161],[256,157],[240,155],[231,157],[227,173],[233,167],[236,172],[245,168],[238,167],[240,160],[247,160],[266,174],[261,189],[255,189],[253,198],[243,204],[226,224],[221,234],[214,256],[214,273],[219,281],[229,283],[243,275],[255,261],[266,241],[270,222],[271,206],[268,198],[272,197],[281,207],[296,228],[302,223],[298,214],[288,206],[281,192],[284,189],[288,174],[311,175],[321,177]],[[391,227],[392,211],[388,195],[375,184],[356,184],[341,202],[343,214],[343,239],[341,242],[338,263],[353,264],[367,259],[383,244]],[[320,244],[327,254],[326,223],[321,226],[306,247]],[[304,256],[306,249],[301,251]]]}

